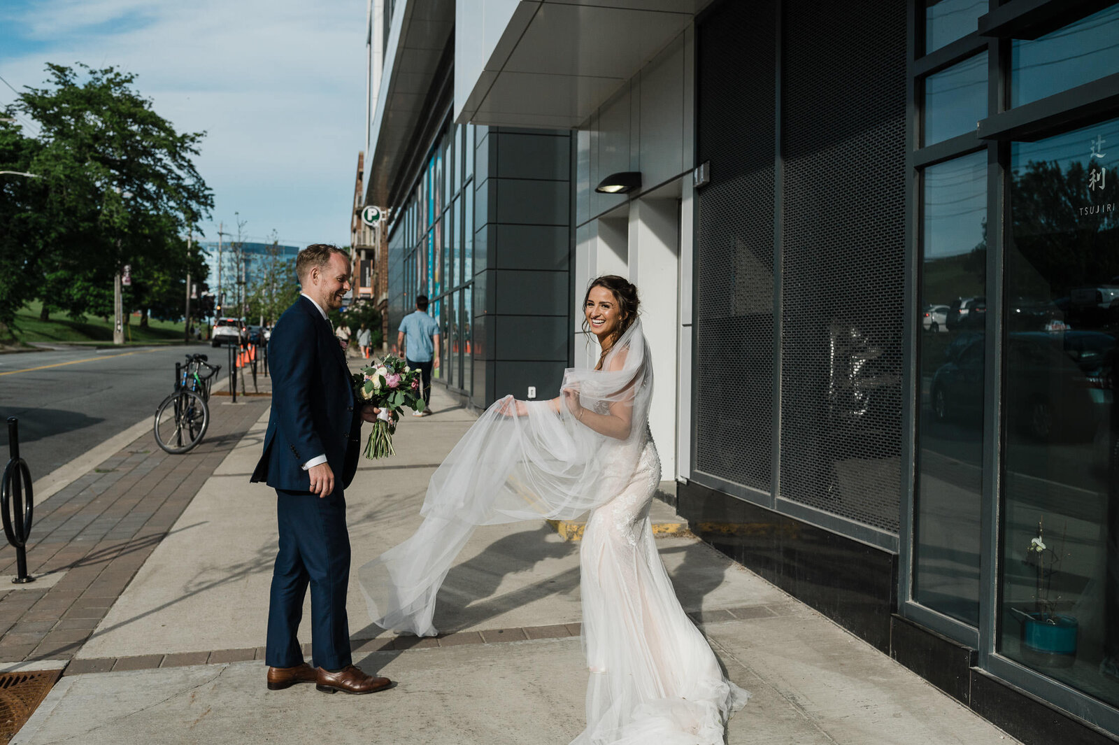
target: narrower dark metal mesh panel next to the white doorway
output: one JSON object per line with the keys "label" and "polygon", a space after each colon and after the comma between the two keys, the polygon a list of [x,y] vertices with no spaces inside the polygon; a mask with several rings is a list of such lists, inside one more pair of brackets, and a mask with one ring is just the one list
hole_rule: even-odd
{"label": "narrower dark metal mesh panel next to the white doorway", "polygon": [[712,182],[697,196],[695,464],[762,491],[772,480],[772,6],[724,3],[696,41],[698,155]]}

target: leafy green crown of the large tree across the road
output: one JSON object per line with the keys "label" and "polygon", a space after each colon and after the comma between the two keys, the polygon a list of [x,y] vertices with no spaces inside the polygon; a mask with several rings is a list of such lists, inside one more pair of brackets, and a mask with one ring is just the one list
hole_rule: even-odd
{"label": "leafy green crown of the large tree across the road", "polygon": [[3,238],[3,261],[20,265],[15,276],[26,285],[13,295],[0,292],[0,323],[10,323],[12,307],[32,295],[45,313],[107,314],[113,276],[124,265],[133,277],[125,311],[171,314],[185,301],[188,264],[196,280],[205,279],[181,238],[190,228],[200,235],[197,224],[213,207],[194,164],[204,133],[177,132],[135,91],[132,74],[85,65],[47,65],[47,73],[46,87],[28,87],[11,106],[39,133],[0,131],[2,162],[41,177],[18,192],[12,183],[0,187],[3,209],[22,214]]}

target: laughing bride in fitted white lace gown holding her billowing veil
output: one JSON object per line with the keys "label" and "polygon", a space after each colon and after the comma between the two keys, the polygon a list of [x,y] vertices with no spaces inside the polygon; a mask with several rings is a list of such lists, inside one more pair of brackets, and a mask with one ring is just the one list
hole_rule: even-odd
{"label": "laughing bride in fitted white lace gown holding her billowing veil", "polygon": [[721,745],[750,695],[724,678],[657,554],[660,460],[638,304],[627,280],[592,281],[583,328],[602,349],[594,369],[566,370],[551,400],[490,406],[432,475],[419,530],[358,576],[376,624],[434,635],[435,595],[474,528],[591,510],[580,549],[591,680],[572,745]]}

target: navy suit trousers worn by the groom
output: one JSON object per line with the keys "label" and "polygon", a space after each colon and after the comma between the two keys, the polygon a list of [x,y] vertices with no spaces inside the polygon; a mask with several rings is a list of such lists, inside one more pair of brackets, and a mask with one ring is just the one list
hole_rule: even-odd
{"label": "navy suit trousers worn by the groom", "polygon": [[311,587],[311,658],[316,667],[350,664],[346,590],[350,546],[340,483],[329,497],[276,489],[280,550],[272,572],[269,636],[264,660],[274,668],[303,661],[297,633],[303,597]]}

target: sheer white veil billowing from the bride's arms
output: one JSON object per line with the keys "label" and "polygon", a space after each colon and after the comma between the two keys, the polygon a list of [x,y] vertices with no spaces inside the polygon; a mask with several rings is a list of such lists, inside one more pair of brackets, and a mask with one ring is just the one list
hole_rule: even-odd
{"label": "sheer white veil billowing from the bride's arms", "polygon": [[617,496],[648,437],[652,361],[640,320],[611,347],[601,370],[568,368],[564,390],[584,408],[629,421],[611,437],[581,423],[560,402],[507,396],[478,418],[427,484],[423,524],[403,544],[358,569],[374,623],[435,635],[435,595],[474,528],[518,520],[573,519]]}

